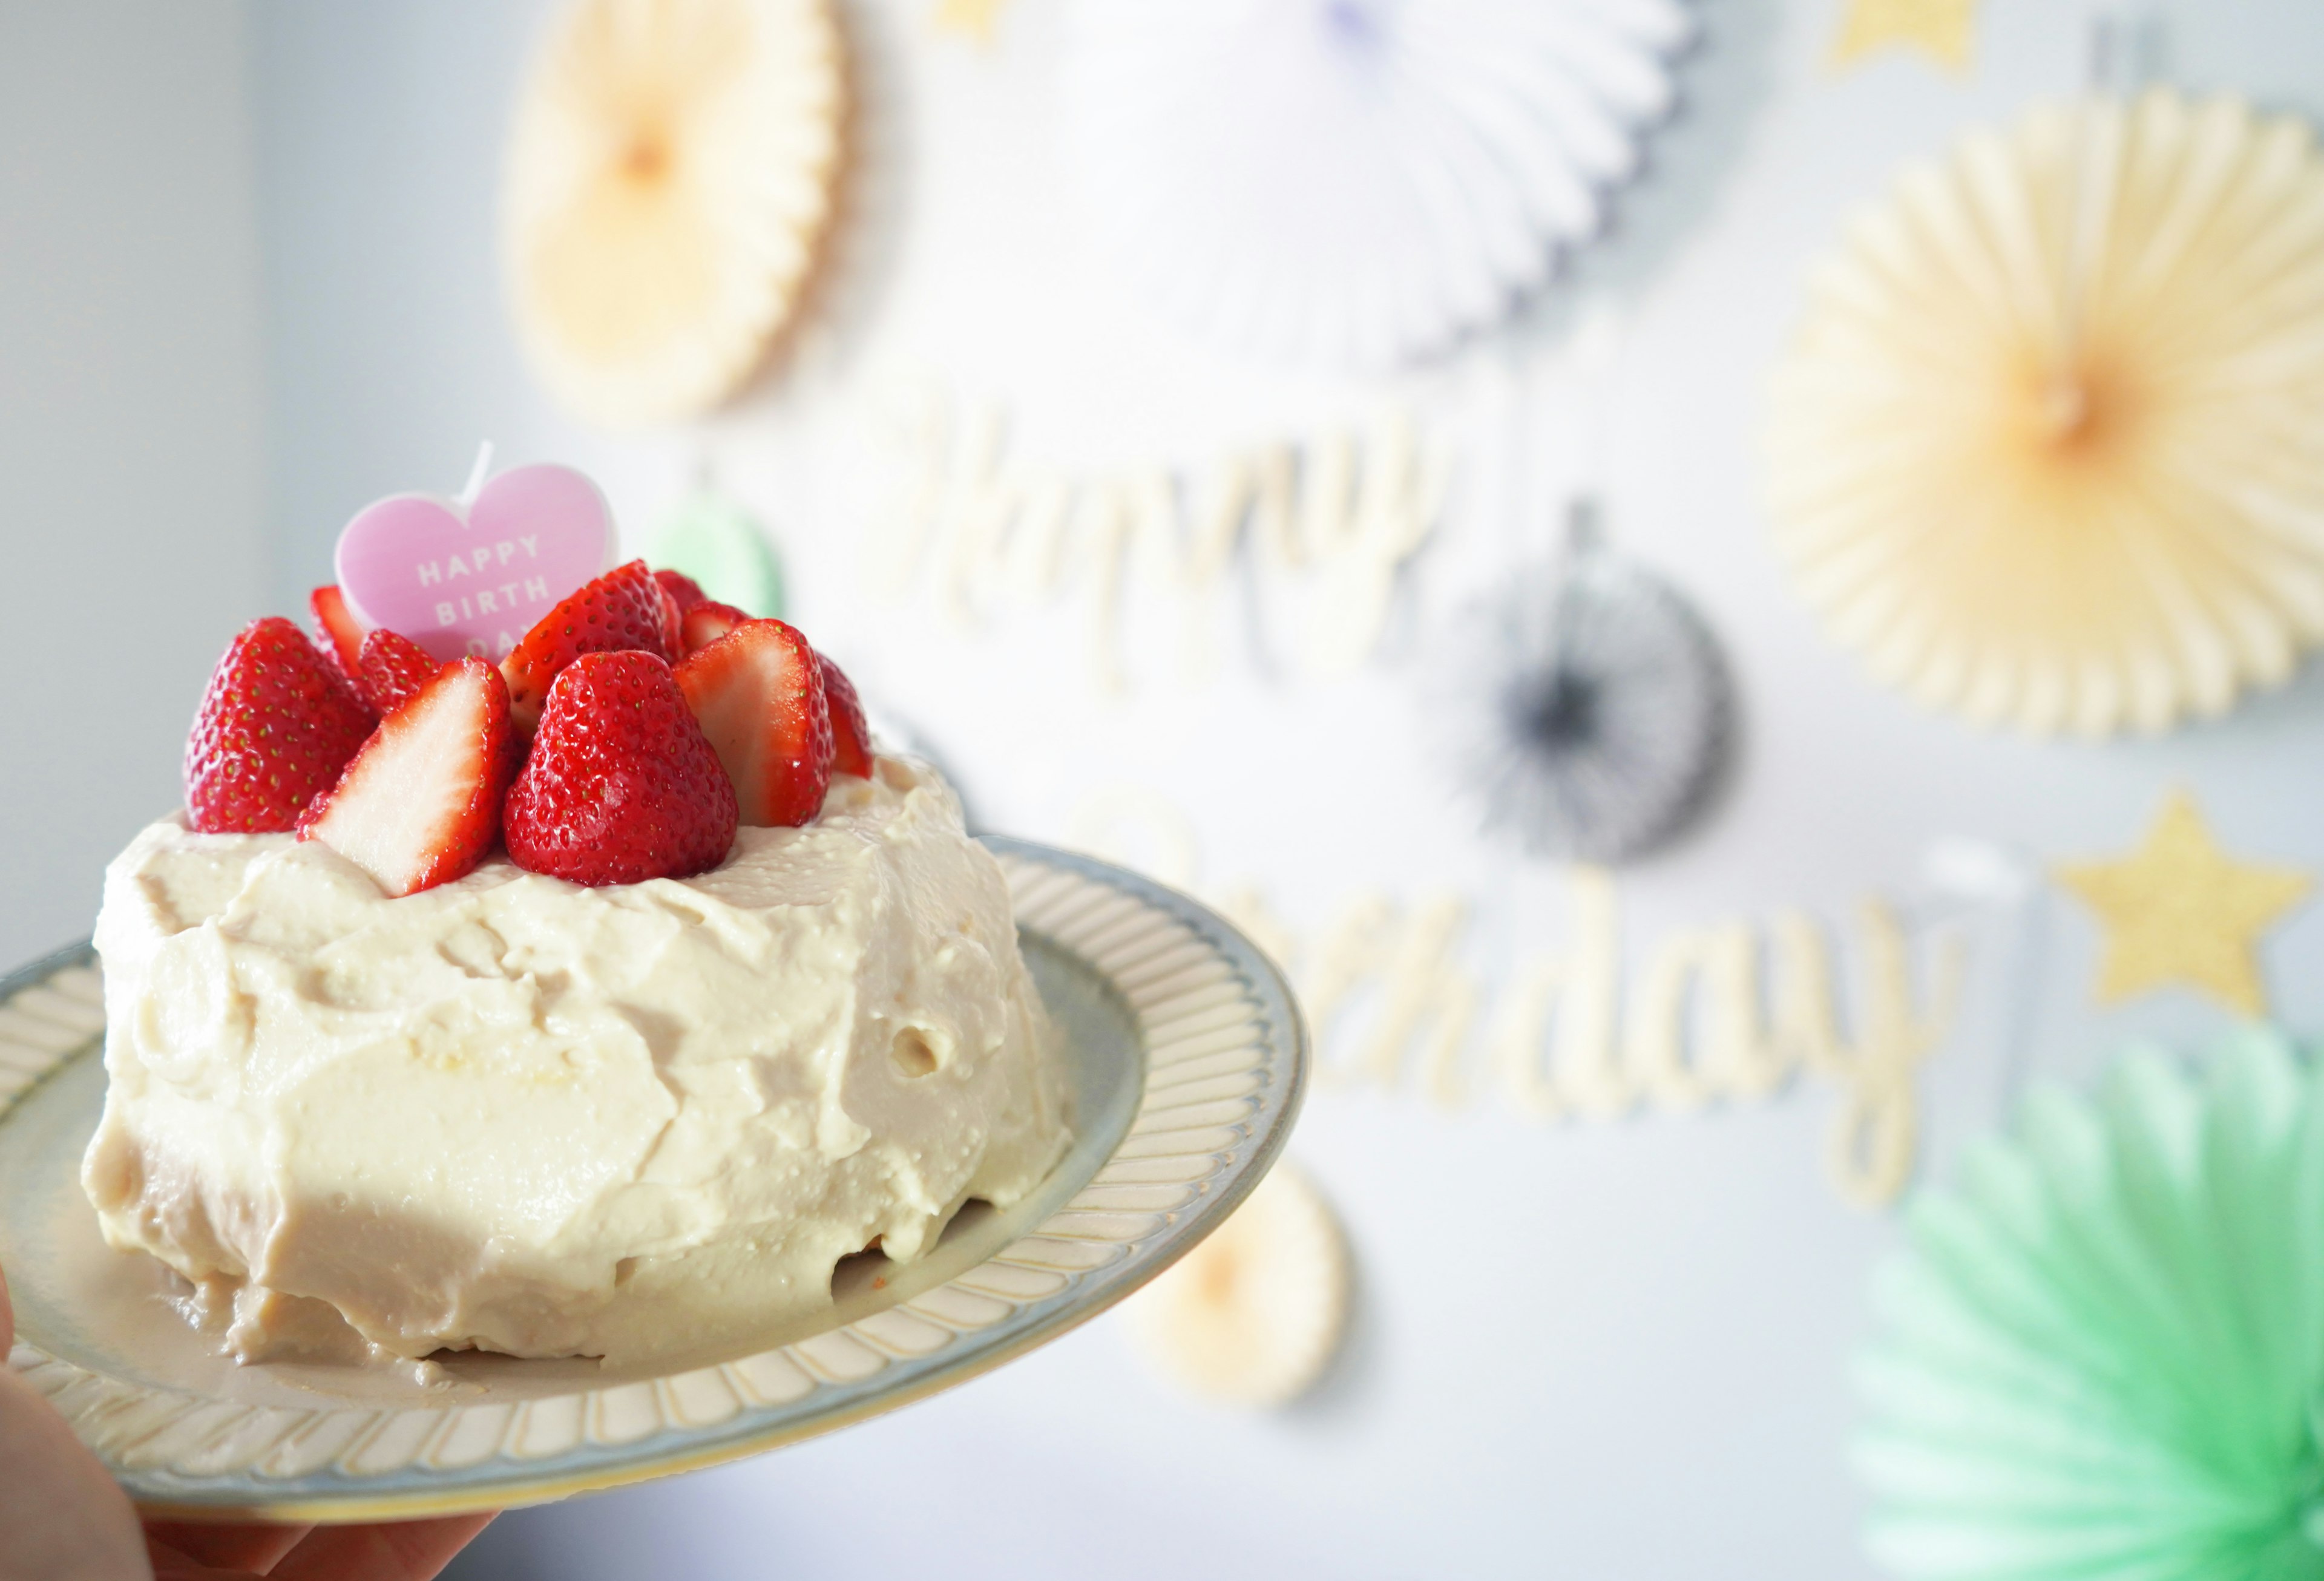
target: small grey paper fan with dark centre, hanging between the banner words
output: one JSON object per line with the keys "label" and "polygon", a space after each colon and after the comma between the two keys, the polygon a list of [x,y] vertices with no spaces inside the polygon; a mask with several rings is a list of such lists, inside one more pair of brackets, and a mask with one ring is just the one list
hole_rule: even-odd
{"label": "small grey paper fan with dark centre, hanging between the banner words", "polygon": [[1485,823],[1559,860],[1622,863],[1676,837],[1734,735],[1710,628],[1587,539],[1462,621],[1434,691],[1446,758]]}

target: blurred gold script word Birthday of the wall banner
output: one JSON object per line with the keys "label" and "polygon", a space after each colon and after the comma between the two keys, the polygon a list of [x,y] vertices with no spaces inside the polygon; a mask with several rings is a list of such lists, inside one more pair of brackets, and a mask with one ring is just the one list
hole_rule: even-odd
{"label": "blurred gold script word Birthday of the wall banner", "polygon": [[[1192,825],[1162,797],[1092,797],[1076,844],[1199,888]],[[1478,907],[1459,893],[1411,907],[1357,893],[1313,946],[1253,884],[1202,893],[1297,983],[1320,1090],[1418,1090],[1457,1111],[1485,1076],[1525,1118],[1604,1123],[1771,1102],[1806,1074],[1841,1095],[1824,1169],[1859,1207],[1892,1202],[1913,1176],[1915,1074],[1952,1030],[1966,967],[1966,942],[1948,935],[1915,974],[1896,911],[1866,897],[1848,951],[1852,995],[1841,993],[1831,930],[1799,907],[1666,932],[1634,970],[1613,872],[1569,867],[1564,944],[1522,956],[1494,993],[1464,963]]]}

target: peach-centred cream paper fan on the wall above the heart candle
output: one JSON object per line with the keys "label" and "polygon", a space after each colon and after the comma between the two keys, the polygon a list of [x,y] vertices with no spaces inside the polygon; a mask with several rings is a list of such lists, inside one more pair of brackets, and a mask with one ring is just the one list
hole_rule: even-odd
{"label": "peach-centred cream paper fan on the wall above the heart candle", "polygon": [[541,381],[602,423],[725,400],[790,321],[846,100],[830,0],[579,0],[509,142],[502,253]]}

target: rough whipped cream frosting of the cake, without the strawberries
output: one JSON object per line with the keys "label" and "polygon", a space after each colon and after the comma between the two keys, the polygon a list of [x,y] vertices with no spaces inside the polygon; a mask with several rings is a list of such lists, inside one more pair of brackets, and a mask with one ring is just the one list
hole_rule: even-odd
{"label": "rough whipped cream frosting of the cake, without the strawberries", "polygon": [[[837,777],[695,879],[493,858],[402,900],[290,835],[146,828],[105,872],[105,1239],[386,1353],[623,1360],[830,1304],[1064,1151],[1009,890],[927,767]],[[293,1300],[302,1297],[302,1300]]]}

